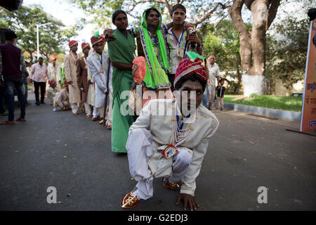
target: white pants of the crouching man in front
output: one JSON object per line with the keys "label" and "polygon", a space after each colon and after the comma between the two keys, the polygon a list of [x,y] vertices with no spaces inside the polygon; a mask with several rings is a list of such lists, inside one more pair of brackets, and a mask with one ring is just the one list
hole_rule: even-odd
{"label": "white pants of the crouching man in front", "polygon": [[[192,162],[187,148],[177,147],[178,153],[173,155],[172,175],[169,177],[171,183],[183,179],[185,172]],[[146,200],[153,195],[152,172],[148,167],[148,160],[152,156],[152,135],[147,129],[134,129],[129,134],[126,143],[126,150],[129,158],[129,171],[131,176],[138,181],[133,189],[133,194],[138,194],[138,198]]]}

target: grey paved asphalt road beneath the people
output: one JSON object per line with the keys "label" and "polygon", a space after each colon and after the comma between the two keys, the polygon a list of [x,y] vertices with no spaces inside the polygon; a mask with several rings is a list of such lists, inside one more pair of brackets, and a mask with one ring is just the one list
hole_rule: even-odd
{"label": "grey paved asphalt road beneath the people", "polygon": [[[27,122],[0,127],[0,210],[121,210],[136,182],[126,154],[110,150],[111,131],[29,99]],[[316,210],[316,136],[286,130],[298,122],[215,115],[220,127],[197,178],[199,210]],[[49,186],[56,204],[46,202]],[[260,186],[268,188],[267,204],[257,202]],[[177,194],[155,179],[154,197],[135,210],[182,210]]]}

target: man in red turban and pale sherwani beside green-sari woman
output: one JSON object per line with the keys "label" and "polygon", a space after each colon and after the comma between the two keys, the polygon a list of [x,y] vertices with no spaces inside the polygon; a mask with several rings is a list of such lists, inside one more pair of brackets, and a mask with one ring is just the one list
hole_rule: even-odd
{"label": "man in red turban and pale sherwani beside green-sari woman", "polygon": [[[105,46],[105,38],[98,34],[94,34],[91,37],[91,44],[94,49],[94,53],[88,56],[87,64],[88,70],[90,70],[93,80],[96,84],[96,102],[95,108],[98,110],[100,117],[106,120],[104,115],[105,110],[105,96],[110,92],[110,86],[112,86],[112,68],[110,66],[110,58],[106,51],[103,51]],[[103,120],[99,123],[102,124]]]}

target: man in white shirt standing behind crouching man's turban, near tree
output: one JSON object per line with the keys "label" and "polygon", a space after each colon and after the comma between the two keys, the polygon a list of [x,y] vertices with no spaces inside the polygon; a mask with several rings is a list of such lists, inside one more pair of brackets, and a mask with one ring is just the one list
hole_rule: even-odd
{"label": "man in white shirt standing behind crouching man's turban, near tree", "polygon": [[215,63],[215,56],[209,56],[207,60],[207,68],[209,69],[209,79],[207,81],[206,90],[204,94],[206,94],[208,98],[207,108],[211,110],[211,106],[213,104],[216,93],[216,80],[217,84],[219,84],[220,79],[219,68],[217,63]]}

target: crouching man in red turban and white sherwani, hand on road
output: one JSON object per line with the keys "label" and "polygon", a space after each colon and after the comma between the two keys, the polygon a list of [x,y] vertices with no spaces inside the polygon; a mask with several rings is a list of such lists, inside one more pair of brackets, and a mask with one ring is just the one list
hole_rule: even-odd
{"label": "crouching man in red turban and white sherwani, hand on road", "polygon": [[218,128],[215,115],[201,104],[207,80],[202,62],[181,60],[174,79],[178,97],[151,100],[131,125],[126,150],[131,176],[138,183],[121,207],[131,209],[151,198],[153,179],[161,177],[165,188],[180,189],[176,205],[183,200],[184,210],[187,205],[197,210],[195,179]]}

